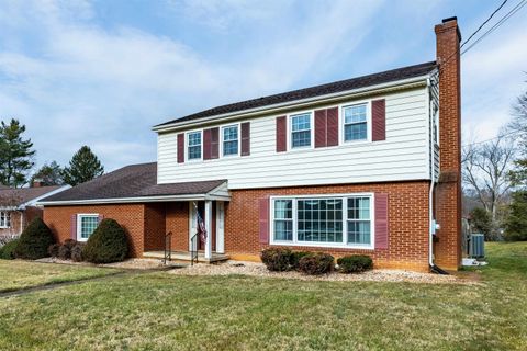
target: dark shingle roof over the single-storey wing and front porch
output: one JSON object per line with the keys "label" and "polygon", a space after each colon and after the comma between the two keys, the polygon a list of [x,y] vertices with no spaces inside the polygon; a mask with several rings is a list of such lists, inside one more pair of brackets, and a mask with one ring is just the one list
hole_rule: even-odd
{"label": "dark shingle roof over the single-storey wing and front porch", "polygon": [[205,194],[225,180],[157,184],[157,163],[126,166],[42,202]]}

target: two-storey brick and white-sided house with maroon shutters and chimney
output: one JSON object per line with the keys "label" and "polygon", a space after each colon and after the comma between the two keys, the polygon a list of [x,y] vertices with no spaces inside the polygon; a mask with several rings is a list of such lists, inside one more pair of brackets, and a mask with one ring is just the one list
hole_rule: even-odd
{"label": "two-storey brick and white-sided house with maroon shutters and chimney", "polygon": [[[435,32],[435,61],[157,125],[157,162],[46,199],[45,222],[60,240],[86,240],[114,218],[134,257],[161,251],[171,233],[172,250],[198,246],[210,260],[288,247],[457,269],[461,36],[456,18]],[[191,240],[198,216],[204,242]]]}

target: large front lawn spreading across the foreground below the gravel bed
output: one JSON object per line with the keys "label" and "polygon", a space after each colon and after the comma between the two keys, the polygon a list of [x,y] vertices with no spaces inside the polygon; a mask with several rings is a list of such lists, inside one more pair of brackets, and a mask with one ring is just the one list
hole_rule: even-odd
{"label": "large front lawn spreading across the foreground below the gravel bed", "polygon": [[481,285],[130,273],[0,298],[9,350],[527,350],[527,245]]}

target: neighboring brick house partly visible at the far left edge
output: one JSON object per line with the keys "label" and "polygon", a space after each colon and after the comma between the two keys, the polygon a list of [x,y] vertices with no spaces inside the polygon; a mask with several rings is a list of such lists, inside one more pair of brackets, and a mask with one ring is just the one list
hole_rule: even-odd
{"label": "neighboring brick house partly visible at the far left edge", "polygon": [[57,194],[69,185],[11,189],[0,188],[0,236],[19,236],[31,220],[43,216],[42,206],[36,202],[43,197]]}

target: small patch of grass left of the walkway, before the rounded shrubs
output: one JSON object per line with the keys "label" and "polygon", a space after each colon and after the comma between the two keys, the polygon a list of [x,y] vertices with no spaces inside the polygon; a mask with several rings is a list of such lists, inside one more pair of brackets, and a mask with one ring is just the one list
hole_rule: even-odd
{"label": "small patch of grass left of the walkway, before the rounded shrubs", "polygon": [[0,260],[0,293],[117,272],[112,269]]}

